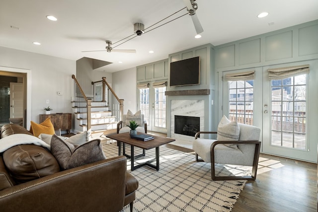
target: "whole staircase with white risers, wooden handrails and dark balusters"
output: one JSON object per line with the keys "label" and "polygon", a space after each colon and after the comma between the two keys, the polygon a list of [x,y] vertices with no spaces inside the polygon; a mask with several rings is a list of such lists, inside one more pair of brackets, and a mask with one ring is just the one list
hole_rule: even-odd
{"label": "whole staircase with white risers, wooden handrails and dark balusters", "polygon": [[75,81],[72,101],[75,133],[89,131],[92,138],[116,133],[123,113],[123,99],[118,99],[104,77],[101,81],[92,82],[93,98],[86,97],[74,75],[72,78]]}

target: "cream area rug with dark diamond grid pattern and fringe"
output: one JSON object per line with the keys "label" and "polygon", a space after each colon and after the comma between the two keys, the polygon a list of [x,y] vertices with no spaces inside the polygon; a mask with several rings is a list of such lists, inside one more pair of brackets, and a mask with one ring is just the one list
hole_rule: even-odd
{"label": "cream area rug with dark diamond grid pattern and fringe", "polygon": [[[116,143],[104,143],[107,158],[118,155]],[[138,153],[137,147],[135,151]],[[130,153],[126,144],[126,153]],[[213,181],[211,164],[196,162],[195,155],[160,146],[159,171],[149,166],[127,170],[138,181],[134,212],[230,212],[246,180]],[[135,155],[137,155],[135,153]],[[155,157],[155,149],[146,150],[146,158]],[[139,158],[138,158],[139,159]],[[141,158],[143,160],[144,158]],[[137,161],[138,162],[138,161]],[[218,165],[219,175],[248,174],[240,167]],[[129,205],[122,212],[129,212]]]}

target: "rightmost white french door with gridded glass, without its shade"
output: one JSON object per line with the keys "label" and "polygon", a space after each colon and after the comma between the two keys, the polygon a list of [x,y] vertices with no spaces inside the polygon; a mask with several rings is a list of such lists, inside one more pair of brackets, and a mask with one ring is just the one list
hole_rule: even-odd
{"label": "rightmost white french door with gridded glass, without its shade", "polygon": [[268,77],[269,69],[295,65],[299,64],[263,67],[263,132],[266,133],[263,133],[262,151],[315,161],[317,154],[310,152],[309,142],[309,74],[281,79]]}

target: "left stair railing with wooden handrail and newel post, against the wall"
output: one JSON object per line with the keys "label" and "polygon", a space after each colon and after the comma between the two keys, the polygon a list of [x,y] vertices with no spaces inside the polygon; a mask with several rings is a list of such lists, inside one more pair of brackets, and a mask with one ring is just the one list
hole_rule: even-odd
{"label": "left stair railing with wooden handrail and newel post, against the wall", "polygon": [[72,75],[74,79],[74,93],[73,102],[74,108],[77,109],[77,114],[80,114],[80,119],[82,121],[82,127],[86,126],[87,131],[91,131],[91,99],[88,99],[81,89],[78,80],[75,75]]}

